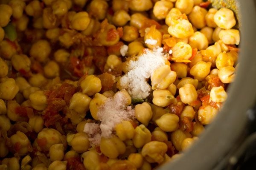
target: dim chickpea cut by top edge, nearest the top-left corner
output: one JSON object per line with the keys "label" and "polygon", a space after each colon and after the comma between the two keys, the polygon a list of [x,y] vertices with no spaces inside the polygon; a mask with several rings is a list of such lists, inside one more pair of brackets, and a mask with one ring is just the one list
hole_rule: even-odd
{"label": "dim chickpea cut by top edge, nearest the top-left corner", "polygon": [[23,10],[26,6],[26,3],[23,2],[22,0],[11,0],[9,2],[9,6],[12,7],[12,11],[13,11],[12,16],[15,19],[19,19],[23,14]]}

